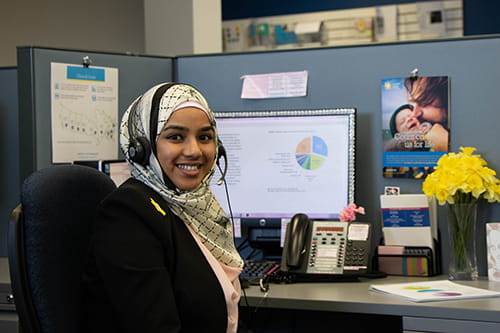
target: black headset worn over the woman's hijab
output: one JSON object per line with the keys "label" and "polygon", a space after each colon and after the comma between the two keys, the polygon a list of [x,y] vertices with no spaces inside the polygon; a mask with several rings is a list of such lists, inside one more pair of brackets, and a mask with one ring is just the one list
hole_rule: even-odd
{"label": "black headset worn over the woman's hijab", "polygon": [[[160,86],[156,89],[153,99],[151,101],[151,117],[149,119],[149,131],[150,138],[156,136],[156,127],[158,125],[158,114],[160,110],[160,100],[165,92],[179,83],[170,82]],[[147,166],[149,164],[149,157],[151,152],[156,150],[156,142],[150,142],[147,137],[139,135],[137,128],[134,126],[133,121],[137,113],[137,104],[139,104],[142,96],[139,97],[130,108],[128,115],[128,133],[129,133],[129,145],[128,145],[128,155],[133,162],[136,162],[142,166]],[[222,141],[217,138],[217,167],[221,170],[220,159],[224,158],[224,169],[221,170],[221,178],[217,181],[217,185],[221,185],[226,177],[227,173],[227,153],[226,149],[222,145]]]}

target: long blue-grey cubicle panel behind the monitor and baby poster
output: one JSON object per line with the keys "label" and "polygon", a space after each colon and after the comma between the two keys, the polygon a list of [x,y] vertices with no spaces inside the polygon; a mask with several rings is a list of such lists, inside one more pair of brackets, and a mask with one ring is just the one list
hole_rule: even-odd
{"label": "long blue-grey cubicle panel behind the monitor and baby poster", "polygon": [[[181,56],[178,80],[197,86],[215,111],[354,107],[357,109],[356,202],[366,208],[359,220],[374,223],[380,236],[379,195],[384,186],[402,193],[421,193],[421,180],[382,175],[381,80],[444,75],[451,85],[450,149],[477,147],[500,172],[498,103],[500,37],[462,38],[364,46],[318,48],[244,54]],[[307,70],[308,94],[299,98],[240,98],[247,74]],[[484,222],[500,221],[500,205],[481,205],[478,226],[480,275],[486,275]],[[439,209],[443,260],[448,243],[445,209]],[[376,245],[376,244],[374,244]],[[446,271],[446,267],[444,267]]]}

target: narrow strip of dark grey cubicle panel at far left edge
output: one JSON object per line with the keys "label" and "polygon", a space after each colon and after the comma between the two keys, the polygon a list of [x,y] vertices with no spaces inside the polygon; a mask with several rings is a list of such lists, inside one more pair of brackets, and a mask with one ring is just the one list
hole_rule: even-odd
{"label": "narrow strip of dark grey cubicle panel at far left edge", "polygon": [[10,212],[19,202],[17,69],[0,68],[0,257],[7,256]]}

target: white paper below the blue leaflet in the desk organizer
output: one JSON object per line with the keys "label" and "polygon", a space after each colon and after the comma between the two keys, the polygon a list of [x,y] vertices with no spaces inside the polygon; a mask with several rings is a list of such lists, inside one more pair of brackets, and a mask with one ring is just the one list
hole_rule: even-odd
{"label": "white paper below the blue leaflet in the desk organizer", "polygon": [[383,228],[385,245],[428,246],[434,250],[431,227]]}

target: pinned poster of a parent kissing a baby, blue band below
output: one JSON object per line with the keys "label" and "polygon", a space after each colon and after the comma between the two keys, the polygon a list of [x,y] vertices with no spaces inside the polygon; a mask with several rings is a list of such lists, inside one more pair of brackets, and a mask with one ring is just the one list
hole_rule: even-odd
{"label": "pinned poster of a parent kissing a baby, blue band below", "polygon": [[384,177],[425,178],[448,152],[449,77],[382,79],[381,94]]}

